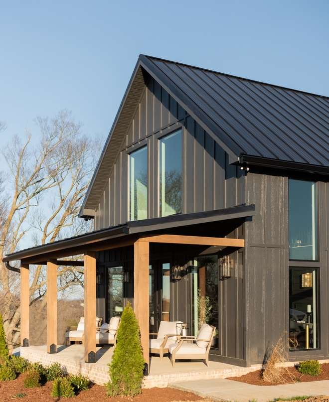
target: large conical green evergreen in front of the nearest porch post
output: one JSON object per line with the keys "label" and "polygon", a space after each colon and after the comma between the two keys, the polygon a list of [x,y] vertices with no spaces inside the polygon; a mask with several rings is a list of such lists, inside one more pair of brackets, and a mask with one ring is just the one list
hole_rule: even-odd
{"label": "large conical green evergreen in front of the nearest porch post", "polygon": [[140,339],[140,327],[131,304],[125,307],[118,329],[117,347],[109,363],[111,380],[109,396],[135,396],[142,392],[145,360]]}

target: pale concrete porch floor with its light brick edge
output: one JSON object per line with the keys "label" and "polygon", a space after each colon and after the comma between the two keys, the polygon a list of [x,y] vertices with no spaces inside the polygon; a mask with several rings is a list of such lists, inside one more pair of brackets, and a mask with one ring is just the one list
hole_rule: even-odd
{"label": "pale concrete porch floor with its light brick edge", "polygon": [[[97,384],[104,384],[109,381],[108,363],[111,362],[113,346],[97,347],[97,363],[84,362],[84,347],[82,345],[58,346],[57,354],[48,354],[47,347],[29,346],[21,347],[20,355],[29,361],[40,362],[49,365],[52,362],[60,362],[67,372],[72,374],[82,373],[87,375]],[[169,357],[164,356],[161,362],[160,357],[150,358],[150,374],[144,378],[144,387],[167,387],[169,383],[181,381],[195,381],[205,379],[217,379],[241,376],[259,367],[239,367],[219,362],[209,362],[207,367],[203,361],[176,361],[175,367],[171,366]]]}

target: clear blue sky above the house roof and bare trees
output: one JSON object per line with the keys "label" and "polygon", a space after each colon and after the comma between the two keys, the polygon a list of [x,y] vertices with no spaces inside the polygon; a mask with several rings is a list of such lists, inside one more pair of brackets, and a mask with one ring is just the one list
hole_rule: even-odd
{"label": "clear blue sky above the house roof and bare trees", "polygon": [[140,53],[329,96],[328,20],[328,0],[0,0],[1,141],[64,108],[107,135]]}

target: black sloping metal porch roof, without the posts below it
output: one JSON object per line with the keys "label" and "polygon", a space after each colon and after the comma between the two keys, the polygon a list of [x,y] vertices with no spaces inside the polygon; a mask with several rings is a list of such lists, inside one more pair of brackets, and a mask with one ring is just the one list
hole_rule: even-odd
{"label": "black sloping metal porch roof, without the posts below it", "polygon": [[255,214],[255,205],[240,205],[213,211],[171,215],[163,218],[130,221],[125,224],[31,247],[8,254],[4,263],[21,260],[23,264],[46,264],[49,259],[58,259],[88,251],[102,251],[115,247],[133,245],[144,232],[166,233],[169,229],[209,222],[229,221]]}

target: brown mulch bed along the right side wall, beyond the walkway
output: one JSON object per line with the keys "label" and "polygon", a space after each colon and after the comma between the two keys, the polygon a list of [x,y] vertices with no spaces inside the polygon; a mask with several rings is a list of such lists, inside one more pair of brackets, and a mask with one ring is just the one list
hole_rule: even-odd
{"label": "brown mulch bed along the right side wall, beyond the walkway", "polygon": [[[283,369],[283,381],[281,384],[290,384],[294,382],[307,383],[310,381],[322,381],[329,380],[329,363],[323,363],[321,365],[322,373],[317,377],[309,376],[308,374],[301,374],[297,371],[296,367],[286,367]],[[289,371],[289,373],[287,372]],[[257,370],[251,373],[245,374],[241,377],[230,377],[227,380],[239,381],[240,383],[252,384],[252,385],[278,385],[278,383],[267,383],[262,378],[262,371]],[[309,399],[308,401],[311,402]]]}

